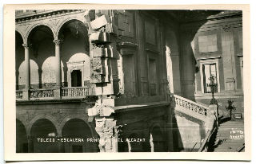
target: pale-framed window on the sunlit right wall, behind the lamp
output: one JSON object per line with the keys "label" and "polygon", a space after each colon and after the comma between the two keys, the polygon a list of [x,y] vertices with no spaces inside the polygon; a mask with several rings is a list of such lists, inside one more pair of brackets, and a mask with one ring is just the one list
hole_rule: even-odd
{"label": "pale-framed window on the sunlit right wall, behind the lamp", "polygon": [[220,92],[218,72],[218,58],[200,61],[202,93]]}

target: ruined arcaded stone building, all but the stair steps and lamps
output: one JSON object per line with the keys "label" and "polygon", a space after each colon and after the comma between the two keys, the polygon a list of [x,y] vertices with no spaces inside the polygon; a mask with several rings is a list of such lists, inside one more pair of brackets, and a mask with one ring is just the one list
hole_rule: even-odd
{"label": "ruined arcaded stone building, all but the stair steps and lamps", "polygon": [[229,99],[243,115],[239,11],[17,10],[15,21],[17,152],[200,150],[210,76],[219,115]]}

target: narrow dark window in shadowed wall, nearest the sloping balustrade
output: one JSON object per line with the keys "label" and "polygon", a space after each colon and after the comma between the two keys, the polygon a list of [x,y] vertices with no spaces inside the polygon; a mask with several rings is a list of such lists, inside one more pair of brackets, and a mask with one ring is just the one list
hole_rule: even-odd
{"label": "narrow dark window in shadowed wall, nearest the sloping balustrade", "polygon": [[157,95],[157,65],[154,59],[149,60],[150,74],[150,96]]}

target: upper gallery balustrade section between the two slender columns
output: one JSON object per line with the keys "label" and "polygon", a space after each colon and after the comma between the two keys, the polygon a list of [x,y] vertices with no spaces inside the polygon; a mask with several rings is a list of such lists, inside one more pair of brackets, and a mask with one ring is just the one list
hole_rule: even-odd
{"label": "upper gallery balustrade section between the two slender columns", "polygon": [[30,89],[30,99],[54,97],[54,89]]}

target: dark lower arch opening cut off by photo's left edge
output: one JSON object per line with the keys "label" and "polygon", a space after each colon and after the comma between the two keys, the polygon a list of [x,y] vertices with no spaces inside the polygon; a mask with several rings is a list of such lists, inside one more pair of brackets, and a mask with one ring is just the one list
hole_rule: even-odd
{"label": "dark lower arch opening cut off by photo's left edge", "polygon": [[26,127],[22,121],[16,119],[16,153],[28,152]]}

